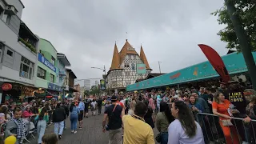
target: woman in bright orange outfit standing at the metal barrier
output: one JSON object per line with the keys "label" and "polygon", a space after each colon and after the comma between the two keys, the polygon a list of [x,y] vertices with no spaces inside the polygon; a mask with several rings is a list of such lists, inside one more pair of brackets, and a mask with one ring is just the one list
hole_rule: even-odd
{"label": "woman in bright orange outfit standing at the metal barrier", "polygon": [[231,102],[225,99],[225,96],[222,93],[216,92],[214,94],[214,102],[212,103],[213,113],[219,117],[219,124],[222,127],[226,144],[238,144],[239,139],[237,130],[230,122],[231,116],[228,112],[230,104]]}

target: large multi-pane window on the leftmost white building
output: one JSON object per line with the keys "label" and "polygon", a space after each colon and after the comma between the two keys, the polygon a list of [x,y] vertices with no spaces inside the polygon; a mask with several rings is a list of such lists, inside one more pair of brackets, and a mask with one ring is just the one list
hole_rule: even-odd
{"label": "large multi-pane window on the leftmost white building", "polygon": [[33,78],[34,63],[22,56],[22,62],[19,70],[19,76],[22,78]]}

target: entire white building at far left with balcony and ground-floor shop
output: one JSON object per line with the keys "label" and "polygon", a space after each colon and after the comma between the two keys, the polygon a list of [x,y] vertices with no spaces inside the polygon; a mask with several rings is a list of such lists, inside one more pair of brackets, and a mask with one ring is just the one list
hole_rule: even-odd
{"label": "entire white building at far left with balcony and ground-floor shop", "polygon": [[38,37],[22,22],[20,0],[0,0],[0,99],[34,93]]}

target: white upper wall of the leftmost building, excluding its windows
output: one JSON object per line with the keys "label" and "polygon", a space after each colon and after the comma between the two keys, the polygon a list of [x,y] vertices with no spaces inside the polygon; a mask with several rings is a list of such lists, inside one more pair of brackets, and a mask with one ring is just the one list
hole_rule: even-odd
{"label": "white upper wall of the leftmost building, excluding its windows", "polygon": [[[22,9],[24,7],[20,0],[6,0],[6,2],[8,5],[15,6],[18,13],[11,17],[10,25],[6,23],[6,14],[0,15],[0,44],[2,42],[3,46],[2,55],[0,56],[0,78],[5,81],[10,80],[34,85],[34,75],[32,79],[19,76],[22,56],[34,63],[34,66],[36,66],[37,62],[37,54],[34,54],[29,48],[18,42],[20,18],[22,17]],[[12,58],[6,54],[7,50],[13,52]]]}

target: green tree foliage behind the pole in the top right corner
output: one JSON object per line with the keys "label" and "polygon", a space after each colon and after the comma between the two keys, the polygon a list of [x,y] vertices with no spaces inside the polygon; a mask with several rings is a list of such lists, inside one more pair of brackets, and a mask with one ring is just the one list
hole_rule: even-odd
{"label": "green tree foliage behind the pole in the top right corner", "polygon": [[[231,0],[234,1],[236,7],[236,14],[238,14],[242,26],[246,31],[246,36],[251,43],[252,51],[256,51],[256,2],[255,0]],[[218,23],[226,25],[223,30],[218,32],[223,42],[227,42],[226,48],[236,49],[241,51],[238,38],[234,31],[234,26],[231,22],[230,15],[226,10],[226,6],[216,10],[214,16],[218,16]]]}

